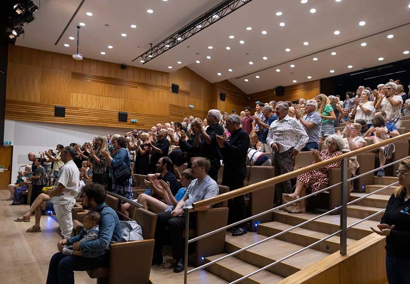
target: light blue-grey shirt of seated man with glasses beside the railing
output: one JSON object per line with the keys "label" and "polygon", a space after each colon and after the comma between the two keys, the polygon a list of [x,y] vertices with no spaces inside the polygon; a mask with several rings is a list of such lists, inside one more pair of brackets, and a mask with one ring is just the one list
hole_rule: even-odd
{"label": "light blue-grey shirt of seated man with glasses beside the railing", "polygon": [[187,206],[192,206],[192,203],[195,203],[200,200],[208,199],[218,195],[219,188],[216,181],[211,179],[210,176],[206,176],[202,181],[194,179],[188,186],[188,189],[185,191],[183,197],[187,197],[183,208]]}

